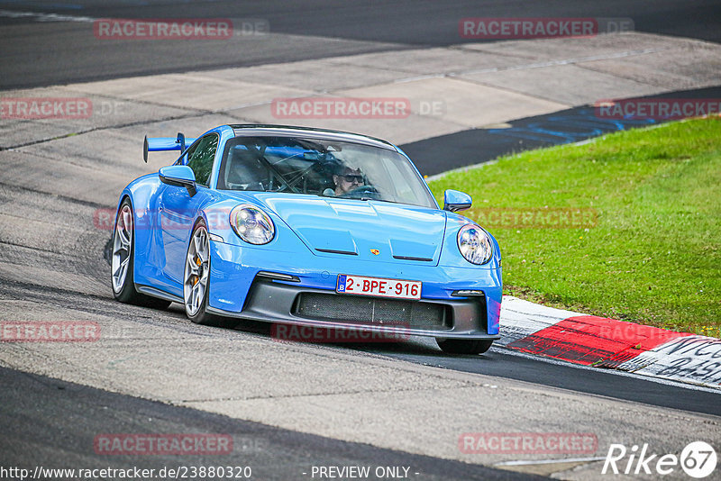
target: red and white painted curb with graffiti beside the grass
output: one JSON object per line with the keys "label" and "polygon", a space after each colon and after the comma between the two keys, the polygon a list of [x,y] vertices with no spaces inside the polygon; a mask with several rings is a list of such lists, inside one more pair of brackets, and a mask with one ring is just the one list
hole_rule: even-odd
{"label": "red and white painted curb with graffiti beside the grass", "polygon": [[719,339],[573,313],[510,295],[503,296],[496,344],[584,366],[721,388]]}

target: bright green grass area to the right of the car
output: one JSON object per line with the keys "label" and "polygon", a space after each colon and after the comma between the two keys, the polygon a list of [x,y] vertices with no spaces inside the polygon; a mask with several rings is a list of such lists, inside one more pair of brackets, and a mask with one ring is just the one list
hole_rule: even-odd
{"label": "bright green grass area to the right of the car", "polygon": [[720,120],[526,151],[430,186],[441,203],[446,188],[472,195],[477,221],[485,209],[595,210],[585,229],[487,225],[506,294],[721,337]]}

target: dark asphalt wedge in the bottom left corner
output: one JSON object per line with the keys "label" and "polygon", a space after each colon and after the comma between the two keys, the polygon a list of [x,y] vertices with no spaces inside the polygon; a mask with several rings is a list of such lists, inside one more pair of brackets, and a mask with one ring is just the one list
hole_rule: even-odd
{"label": "dark asphalt wedge in the bottom left corner", "polygon": [[[88,455],[98,432],[224,432],[233,436],[235,449],[222,458],[223,466],[252,467],[257,479],[294,479],[310,473],[313,466],[412,466],[430,480],[507,479],[507,471],[470,466],[348,443],[311,434],[281,430],[257,422],[239,421],[195,409],[154,403],[125,395],[112,395],[87,386],[0,368],[2,402],[0,429],[5,439],[0,463],[21,467],[98,466],[127,467],[127,460],[105,464]],[[32,398],[32,405],[26,400]],[[108,417],[107,413],[113,413]],[[70,415],[68,415],[68,413]],[[82,415],[80,415],[82,413]],[[72,459],[72,461],[70,461]],[[214,456],[194,459],[197,465],[214,466]],[[141,469],[177,467],[174,456],[152,456],[132,463]],[[516,475],[517,479],[537,476]]]}

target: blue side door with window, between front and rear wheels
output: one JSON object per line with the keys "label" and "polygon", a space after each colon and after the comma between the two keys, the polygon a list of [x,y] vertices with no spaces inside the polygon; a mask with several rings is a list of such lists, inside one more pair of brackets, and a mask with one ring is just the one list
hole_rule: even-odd
{"label": "blue side door with window, between front and rear wheels", "polygon": [[168,185],[163,185],[163,191],[159,195],[160,230],[165,254],[162,270],[164,277],[169,279],[173,286],[179,286],[179,295],[182,295],[187,242],[199,209],[211,196],[208,186],[218,141],[218,134],[209,133],[190,146],[179,160],[179,163],[193,169],[196,176],[196,195],[191,197],[185,187]]}

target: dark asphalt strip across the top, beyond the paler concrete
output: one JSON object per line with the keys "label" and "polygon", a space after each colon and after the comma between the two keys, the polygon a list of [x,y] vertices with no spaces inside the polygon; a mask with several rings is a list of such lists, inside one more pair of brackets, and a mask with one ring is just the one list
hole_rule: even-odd
{"label": "dark asphalt strip across the top, beyond the paler concrete", "polygon": [[[22,5],[22,6],[21,6]],[[292,40],[239,37],[227,41],[187,42],[169,48],[141,41],[118,49],[115,41],[87,41],[90,23],[55,23],[45,17],[13,17],[0,12],[0,88],[48,86],[66,82],[322,59],[336,55],[402,50],[415,46],[461,43],[463,17],[630,17],[638,32],[721,41],[721,15],[715,0],[564,0],[472,2],[454,0],[362,3],[235,1],[0,2],[9,12],[94,18],[232,18],[261,19],[275,33]],[[21,40],[22,41],[18,41]],[[23,60],[27,61],[23,61]],[[322,75],[322,73],[319,73]]]}

